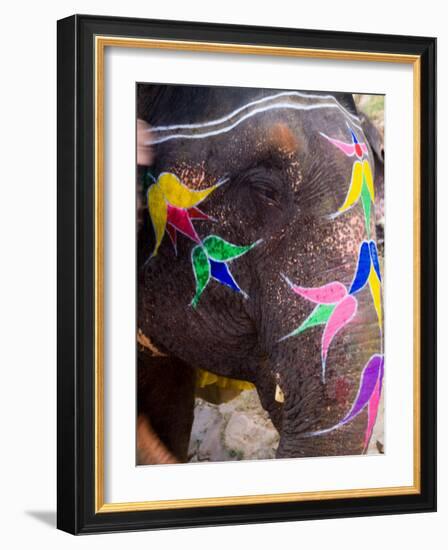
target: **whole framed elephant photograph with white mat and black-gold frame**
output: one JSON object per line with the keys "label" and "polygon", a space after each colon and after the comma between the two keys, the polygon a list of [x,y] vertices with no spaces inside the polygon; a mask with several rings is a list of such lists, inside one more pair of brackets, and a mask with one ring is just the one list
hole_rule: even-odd
{"label": "whole framed elephant photograph with white mat and black-gold frame", "polygon": [[433,511],[433,38],[58,22],[58,527]]}

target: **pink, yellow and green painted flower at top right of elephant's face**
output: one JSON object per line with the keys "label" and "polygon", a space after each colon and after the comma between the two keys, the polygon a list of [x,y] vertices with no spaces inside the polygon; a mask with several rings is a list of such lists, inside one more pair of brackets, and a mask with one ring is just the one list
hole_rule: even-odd
{"label": "pink, yellow and green painted flower at top right of elephant's face", "polygon": [[338,139],[330,138],[321,132],[321,136],[327,139],[346,156],[356,157],[352,167],[352,175],[350,178],[347,196],[343,205],[339,208],[336,216],[349,210],[359,201],[359,199],[361,199],[361,204],[364,210],[366,231],[367,235],[370,236],[372,203],[375,201],[375,188],[373,185],[372,169],[368,159],[364,158],[368,155],[367,145],[359,142],[353,130],[351,128],[349,128],[349,130],[352,137],[351,143],[345,143]]}

